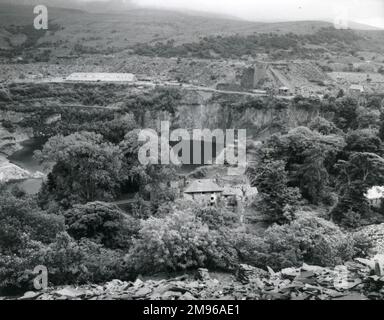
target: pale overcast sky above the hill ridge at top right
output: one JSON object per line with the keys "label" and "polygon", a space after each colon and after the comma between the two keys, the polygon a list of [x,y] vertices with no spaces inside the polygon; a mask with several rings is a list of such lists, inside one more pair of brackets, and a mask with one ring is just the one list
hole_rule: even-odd
{"label": "pale overcast sky above the hill ridge at top right", "polygon": [[161,8],[207,11],[256,21],[344,19],[384,28],[384,0],[133,0]]}

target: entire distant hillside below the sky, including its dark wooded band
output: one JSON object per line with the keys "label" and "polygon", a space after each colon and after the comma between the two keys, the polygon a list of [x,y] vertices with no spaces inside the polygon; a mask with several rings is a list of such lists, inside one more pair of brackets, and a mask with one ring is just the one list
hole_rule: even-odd
{"label": "entire distant hillside below the sky, including its dark wooded band", "polygon": [[[28,0],[28,3],[33,1]],[[62,2],[55,0],[53,3]],[[25,49],[39,47],[49,49],[56,55],[109,54],[133,49],[138,54],[149,56],[203,58],[211,54],[239,57],[261,49],[293,49],[293,56],[297,56],[295,52],[327,51],[330,45],[336,51],[360,48],[379,50],[384,34],[382,31],[331,32],[332,25],[321,21],[257,23],[200,16],[196,12],[136,7],[119,13],[91,13],[51,6],[48,9],[50,29],[48,32],[35,32],[32,6],[0,4],[0,49],[20,54]],[[274,35],[259,35],[268,33]],[[303,50],[307,44],[315,47]],[[236,46],[240,47],[236,49]],[[223,54],[225,52],[227,54]]]}

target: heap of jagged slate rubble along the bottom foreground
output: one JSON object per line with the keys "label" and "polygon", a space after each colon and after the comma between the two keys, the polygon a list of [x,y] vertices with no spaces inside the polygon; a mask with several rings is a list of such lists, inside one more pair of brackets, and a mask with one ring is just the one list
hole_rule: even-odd
{"label": "heap of jagged slate rubble along the bottom foreground", "polygon": [[381,300],[384,256],[357,259],[333,269],[304,264],[280,272],[241,265],[235,274],[199,269],[196,275],[26,292],[19,300]]}

